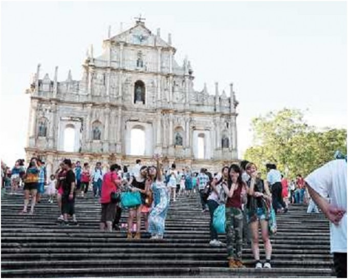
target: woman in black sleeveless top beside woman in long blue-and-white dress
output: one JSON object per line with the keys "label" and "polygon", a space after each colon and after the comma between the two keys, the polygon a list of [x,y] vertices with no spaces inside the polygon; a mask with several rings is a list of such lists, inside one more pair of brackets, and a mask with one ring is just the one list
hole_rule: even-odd
{"label": "woman in black sleeveless top beside woman in long blue-and-white dress", "polygon": [[[133,208],[129,208],[129,216],[128,216],[128,232],[127,232],[127,238],[132,238],[132,227],[133,227],[133,220],[134,217],[136,217],[137,220],[137,231],[134,236],[135,239],[140,239],[140,228],[141,228],[141,209],[142,205],[145,204],[145,198],[146,198],[146,178],[147,178],[147,166],[142,166],[140,168],[138,176],[132,176],[130,177],[129,186],[132,192],[140,192],[141,196],[141,205]],[[148,186],[149,187],[149,186]]]}

